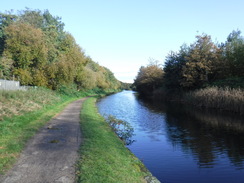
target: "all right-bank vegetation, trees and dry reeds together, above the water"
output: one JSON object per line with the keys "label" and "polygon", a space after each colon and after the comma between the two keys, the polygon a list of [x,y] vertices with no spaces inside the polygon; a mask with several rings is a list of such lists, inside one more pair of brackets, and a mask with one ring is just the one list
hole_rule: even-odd
{"label": "all right-bank vegetation, trees and dry reeds together, above the water", "polygon": [[[157,68],[157,69],[155,69]],[[244,38],[233,31],[224,43],[196,36],[170,52],[164,66],[142,66],[134,87],[143,96],[244,114]]]}

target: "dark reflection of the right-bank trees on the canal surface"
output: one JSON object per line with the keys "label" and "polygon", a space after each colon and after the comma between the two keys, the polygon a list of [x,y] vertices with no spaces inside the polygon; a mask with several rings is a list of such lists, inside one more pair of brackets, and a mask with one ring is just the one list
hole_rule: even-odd
{"label": "dark reflection of the right-bank trees on the canal surface", "polygon": [[166,114],[168,139],[172,145],[180,145],[183,151],[191,151],[200,168],[212,168],[223,154],[228,155],[236,168],[244,168],[244,121],[241,116],[177,103],[162,104],[142,99],[140,102],[153,112]]}

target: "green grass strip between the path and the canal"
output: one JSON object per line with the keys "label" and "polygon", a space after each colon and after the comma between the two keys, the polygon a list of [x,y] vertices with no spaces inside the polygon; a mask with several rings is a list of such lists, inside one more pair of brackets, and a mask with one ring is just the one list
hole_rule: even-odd
{"label": "green grass strip between the path and the canal", "polygon": [[95,98],[87,99],[81,111],[83,145],[77,165],[78,182],[145,182],[145,166],[115,135],[95,107]]}

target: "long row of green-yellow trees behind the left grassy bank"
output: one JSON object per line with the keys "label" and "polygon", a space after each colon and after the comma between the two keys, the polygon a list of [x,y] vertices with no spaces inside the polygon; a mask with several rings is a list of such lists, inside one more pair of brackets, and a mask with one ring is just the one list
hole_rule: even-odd
{"label": "long row of green-yellow trees behind the left grassy bank", "polygon": [[48,10],[0,13],[0,78],[58,89],[118,89],[121,82],[100,66],[64,31]]}

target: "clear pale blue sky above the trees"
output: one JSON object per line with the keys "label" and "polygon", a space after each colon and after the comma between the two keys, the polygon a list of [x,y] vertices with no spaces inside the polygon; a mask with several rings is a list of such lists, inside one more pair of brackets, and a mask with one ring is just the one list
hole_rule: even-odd
{"label": "clear pale blue sky above the trees", "polygon": [[[2,0],[3,1],[3,0]],[[170,51],[206,33],[225,42],[244,31],[243,0],[11,0],[0,12],[49,10],[62,18],[86,55],[132,83],[149,60],[164,64]],[[243,35],[243,34],[242,34]]]}

